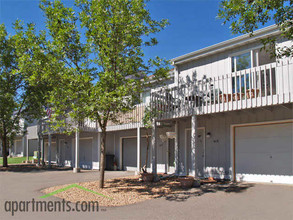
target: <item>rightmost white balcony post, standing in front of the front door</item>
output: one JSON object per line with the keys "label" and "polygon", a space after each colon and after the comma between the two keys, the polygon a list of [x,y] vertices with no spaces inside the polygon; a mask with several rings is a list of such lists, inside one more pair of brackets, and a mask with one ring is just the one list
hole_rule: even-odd
{"label": "rightmost white balcony post, standing in front of the front door", "polygon": [[191,117],[191,169],[194,172],[194,177],[198,178],[197,175],[197,161],[196,161],[196,151],[197,151],[197,116],[192,115]]}

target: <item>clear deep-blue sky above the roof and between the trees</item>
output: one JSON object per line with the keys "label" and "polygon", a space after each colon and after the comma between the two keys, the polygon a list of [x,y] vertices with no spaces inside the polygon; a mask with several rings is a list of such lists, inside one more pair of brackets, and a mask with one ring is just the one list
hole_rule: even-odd
{"label": "clear deep-blue sky above the roof and between the trees", "polygon": [[[73,1],[64,1],[72,5]],[[171,59],[235,37],[229,25],[217,19],[220,0],[151,0],[148,8],[155,19],[167,18],[170,25],[157,34],[159,44],[146,48],[146,58]],[[0,0],[0,23],[8,32],[16,19],[34,22],[44,29],[44,17],[38,0]]]}

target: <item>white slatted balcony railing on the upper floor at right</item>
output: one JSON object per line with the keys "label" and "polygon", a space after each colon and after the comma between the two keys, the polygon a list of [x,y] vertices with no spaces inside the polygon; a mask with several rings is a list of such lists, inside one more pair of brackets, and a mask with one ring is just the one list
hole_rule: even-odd
{"label": "white slatted balcony railing on the upper floor at right", "polygon": [[158,119],[179,118],[293,102],[293,61],[161,88],[151,93]]}

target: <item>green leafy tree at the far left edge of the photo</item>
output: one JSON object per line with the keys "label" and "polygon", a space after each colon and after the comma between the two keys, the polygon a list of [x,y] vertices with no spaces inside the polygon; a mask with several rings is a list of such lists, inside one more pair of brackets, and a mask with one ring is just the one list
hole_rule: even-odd
{"label": "green leafy tree at the far left edge of the photo", "polygon": [[31,121],[44,113],[49,86],[40,77],[45,59],[44,33],[36,34],[33,24],[26,27],[17,21],[14,35],[0,25],[0,138],[3,166],[7,167],[7,151],[23,126],[20,120]]}

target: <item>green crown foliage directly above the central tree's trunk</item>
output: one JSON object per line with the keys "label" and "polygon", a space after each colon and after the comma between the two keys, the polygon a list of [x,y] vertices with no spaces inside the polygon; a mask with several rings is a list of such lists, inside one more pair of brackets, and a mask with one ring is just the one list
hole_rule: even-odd
{"label": "green crown foliage directly above the central tree's trunk", "polygon": [[[168,71],[164,60],[143,61],[142,46],[157,43],[151,34],[164,28],[166,20],[155,21],[145,9],[144,0],[77,1],[87,42],[98,56],[94,62],[101,69],[92,93],[93,113],[100,127],[117,120],[119,112],[129,111],[140,100],[153,67],[155,77],[164,78]],[[144,41],[144,37],[149,37]]]}

